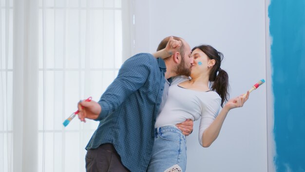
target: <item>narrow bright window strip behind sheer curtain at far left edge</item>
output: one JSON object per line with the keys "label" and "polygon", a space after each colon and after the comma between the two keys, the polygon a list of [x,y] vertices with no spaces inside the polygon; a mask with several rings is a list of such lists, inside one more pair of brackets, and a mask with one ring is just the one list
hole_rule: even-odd
{"label": "narrow bright window strip behind sheer curtain at far left edge", "polygon": [[13,1],[1,0],[0,10],[0,171],[12,172]]}

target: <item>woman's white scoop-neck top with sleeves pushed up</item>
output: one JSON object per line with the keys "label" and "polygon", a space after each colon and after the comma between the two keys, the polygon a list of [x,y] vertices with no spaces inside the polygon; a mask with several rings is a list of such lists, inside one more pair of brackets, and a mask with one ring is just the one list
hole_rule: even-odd
{"label": "woman's white scoop-neck top with sleeves pushed up", "polygon": [[173,79],[164,108],[157,116],[155,128],[175,126],[186,119],[195,121],[200,118],[198,139],[202,146],[202,134],[217,117],[221,98],[215,91],[195,91],[179,86],[188,79],[182,76]]}

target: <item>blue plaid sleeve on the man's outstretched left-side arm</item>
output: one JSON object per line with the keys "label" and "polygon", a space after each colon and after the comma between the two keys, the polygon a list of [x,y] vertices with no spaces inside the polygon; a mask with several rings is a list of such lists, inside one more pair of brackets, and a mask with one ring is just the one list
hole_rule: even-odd
{"label": "blue plaid sleeve on the man's outstretched left-side arm", "polygon": [[145,84],[153,61],[156,60],[152,55],[141,53],[128,59],[121,66],[114,82],[107,87],[98,102],[102,110],[96,121],[111,114],[128,96]]}

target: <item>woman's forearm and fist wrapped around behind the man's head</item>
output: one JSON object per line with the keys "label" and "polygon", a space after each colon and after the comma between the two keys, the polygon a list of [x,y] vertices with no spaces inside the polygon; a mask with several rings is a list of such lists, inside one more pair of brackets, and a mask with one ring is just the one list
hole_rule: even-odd
{"label": "woman's forearm and fist wrapped around behind the man's head", "polygon": [[170,57],[172,54],[174,54],[174,52],[178,51],[180,46],[181,41],[174,40],[173,37],[170,37],[170,40],[166,44],[166,47],[155,53],[152,53],[152,55],[155,58],[166,59],[167,57]]}

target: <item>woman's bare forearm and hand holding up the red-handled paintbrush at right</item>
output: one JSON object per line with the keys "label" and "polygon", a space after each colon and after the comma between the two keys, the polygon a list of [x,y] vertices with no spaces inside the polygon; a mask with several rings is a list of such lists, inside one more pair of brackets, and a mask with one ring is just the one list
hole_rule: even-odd
{"label": "woman's bare forearm and hand holding up the red-handled paintbrush at right", "polygon": [[203,132],[202,134],[202,146],[207,148],[209,147],[218,137],[220,129],[227,117],[227,114],[232,108],[243,107],[244,103],[249,98],[249,92],[247,92],[246,97],[243,95],[236,97],[234,99],[229,100],[225,107],[220,111],[215,120],[211,123],[211,125]]}

